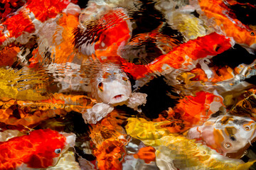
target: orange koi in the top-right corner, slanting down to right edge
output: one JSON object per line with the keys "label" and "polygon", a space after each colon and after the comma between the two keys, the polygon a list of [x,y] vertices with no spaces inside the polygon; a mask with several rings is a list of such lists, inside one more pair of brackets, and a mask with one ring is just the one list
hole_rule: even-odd
{"label": "orange koi in the top-right corner, slanting down to right edge", "polygon": [[232,18],[230,8],[228,8],[229,2],[234,4],[233,0],[198,0],[201,10],[208,18],[213,18],[215,21],[215,27],[219,27],[226,36],[234,38],[235,42],[245,47],[256,49],[256,33],[248,26],[242,24],[238,19]]}

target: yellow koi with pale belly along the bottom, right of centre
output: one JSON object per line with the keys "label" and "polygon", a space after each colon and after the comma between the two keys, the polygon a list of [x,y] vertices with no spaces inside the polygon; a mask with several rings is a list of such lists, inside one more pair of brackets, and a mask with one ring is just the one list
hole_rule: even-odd
{"label": "yellow koi with pale belly along the bottom, right of centre", "polygon": [[159,169],[249,169],[255,162],[244,163],[240,159],[224,157],[195,140],[164,130],[162,124],[143,118],[128,118],[125,126],[128,135],[156,149]]}

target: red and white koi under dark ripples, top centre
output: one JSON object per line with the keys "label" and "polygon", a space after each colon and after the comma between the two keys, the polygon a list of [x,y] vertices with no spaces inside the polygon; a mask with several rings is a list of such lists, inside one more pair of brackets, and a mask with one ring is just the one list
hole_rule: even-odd
{"label": "red and white koi under dark ripples, top centre", "polygon": [[116,56],[120,45],[131,38],[131,23],[124,8],[99,13],[92,21],[80,15],[80,25],[74,30],[75,47],[85,55]]}

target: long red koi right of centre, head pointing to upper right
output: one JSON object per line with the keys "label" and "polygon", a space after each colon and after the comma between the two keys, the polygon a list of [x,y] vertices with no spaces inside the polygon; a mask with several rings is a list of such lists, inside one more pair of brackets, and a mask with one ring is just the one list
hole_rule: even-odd
{"label": "long red koi right of centre, head pointing to upper right", "polygon": [[218,33],[211,33],[174,47],[171,52],[157,57],[153,62],[146,65],[129,63],[118,56],[102,57],[100,61],[122,64],[124,72],[131,74],[134,79],[140,79],[146,74],[163,73],[170,69],[189,71],[195,67],[198,60],[218,55],[230,49],[231,46],[229,38]]}

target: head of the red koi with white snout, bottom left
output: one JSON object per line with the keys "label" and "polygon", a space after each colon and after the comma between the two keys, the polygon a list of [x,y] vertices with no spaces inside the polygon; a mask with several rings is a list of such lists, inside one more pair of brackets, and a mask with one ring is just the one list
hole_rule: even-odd
{"label": "head of the red koi with white snout, bottom left", "polygon": [[[31,154],[23,163],[27,167],[47,168],[57,164],[61,155],[70,147],[75,147],[75,134],[57,132],[55,130],[35,130],[30,134]],[[33,149],[33,150],[32,150]]]}

